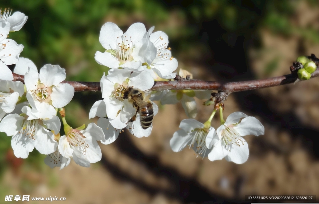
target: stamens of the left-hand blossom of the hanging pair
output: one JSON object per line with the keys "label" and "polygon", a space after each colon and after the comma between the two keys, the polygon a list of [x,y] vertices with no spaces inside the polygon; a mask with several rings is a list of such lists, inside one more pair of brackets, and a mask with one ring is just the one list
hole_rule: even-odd
{"label": "stamens of the left-hand blossom of the hanging pair", "polygon": [[[195,135],[192,139],[192,142],[191,142],[189,148],[193,147],[195,142],[196,142],[197,143],[196,153],[198,155],[203,155],[203,153],[204,153],[204,155],[205,155],[206,150],[207,150],[205,140],[206,140],[206,136],[208,134],[208,129],[207,128],[196,128],[194,130],[194,132],[195,132]],[[198,155],[197,155],[197,157],[198,157]],[[204,159],[204,157],[203,157],[203,159]]]}

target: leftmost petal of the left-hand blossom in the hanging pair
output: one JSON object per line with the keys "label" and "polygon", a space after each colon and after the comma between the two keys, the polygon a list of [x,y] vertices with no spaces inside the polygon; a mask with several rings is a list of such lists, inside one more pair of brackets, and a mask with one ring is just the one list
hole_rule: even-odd
{"label": "leftmost petal of the left-hand blossom in the hanging pair", "polygon": [[190,145],[192,141],[192,136],[185,132],[185,130],[180,129],[173,134],[172,139],[169,144],[174,152],[182,151],[186,146]]}

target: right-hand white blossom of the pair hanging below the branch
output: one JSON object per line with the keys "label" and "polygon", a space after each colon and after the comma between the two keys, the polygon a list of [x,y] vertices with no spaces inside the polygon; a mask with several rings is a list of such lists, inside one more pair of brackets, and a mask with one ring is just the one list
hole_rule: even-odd
{"label": "right-hand white blossom of the pair hanging below the branch", "polygon": [[[241,119],[243,118],[243,119]],[[208,154],[211,161],[221,160],[242,164],[248,159],[248,144],[242,136],[264,134],[263,125],[254,117],[247,116],[242,112],[230,114],[224,125],[216,130],[218,139],[213,140],[213,149]]]}

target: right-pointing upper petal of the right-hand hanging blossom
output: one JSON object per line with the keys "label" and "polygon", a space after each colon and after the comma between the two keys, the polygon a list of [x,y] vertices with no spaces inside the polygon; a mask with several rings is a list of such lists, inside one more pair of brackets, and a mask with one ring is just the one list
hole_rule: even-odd
{"label": "right-pointing upper petal of the right-hand hanging blossom", "polygon": [[255,117],[247,117],[241,120],[241,122],[234,126],[234,129],[241,136],[246,135],[263,135],[265,133],[265,128]]}

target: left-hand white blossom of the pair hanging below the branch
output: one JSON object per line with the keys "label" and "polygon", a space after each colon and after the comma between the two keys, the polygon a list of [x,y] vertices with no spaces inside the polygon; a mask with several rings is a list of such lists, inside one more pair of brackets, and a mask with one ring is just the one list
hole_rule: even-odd
{"label": "left-hand white blossom of the pair hanging below the branch", "polygon": [[193,148],[201,157],[208,155],[207,149],[211,149],[212,140],[216,137],[213,127],[205,127],[203,123],[195,119],[184,119],[179,126],[180,130],[173,134],[169,144],[174,152],[180,152],[186,146]]}

